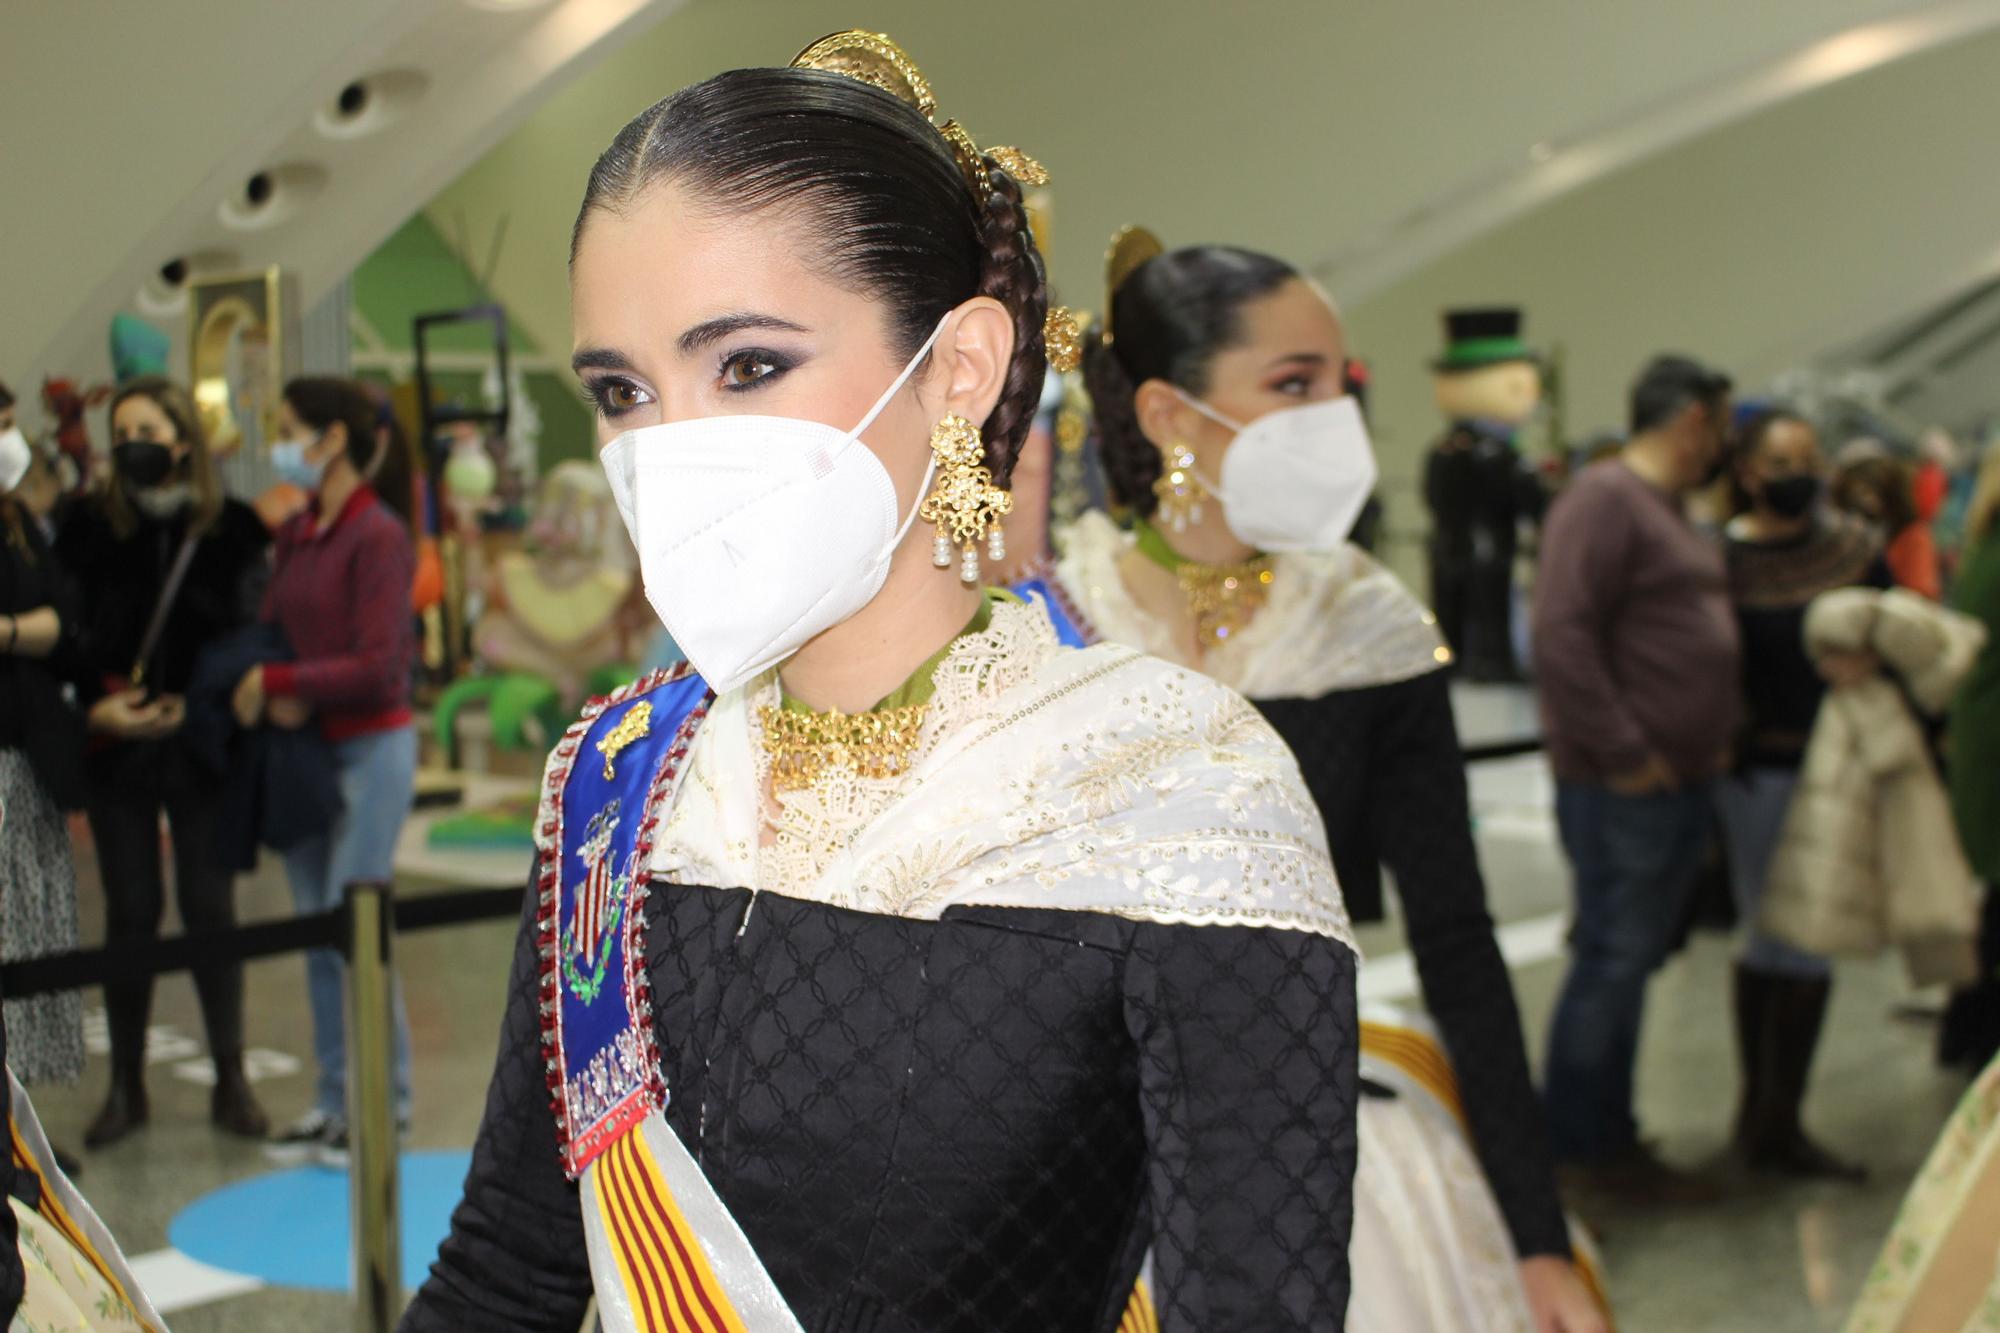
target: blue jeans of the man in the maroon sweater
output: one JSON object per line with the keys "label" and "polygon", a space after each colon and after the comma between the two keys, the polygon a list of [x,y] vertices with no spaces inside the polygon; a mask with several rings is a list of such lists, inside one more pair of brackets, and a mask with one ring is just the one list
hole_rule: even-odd
{"label": "blue jeans of the man in the maroon sweater", "polygon": [[1638,1141],[1632,1071],[1646,983],[1686,921],[1710,819],[1706,785],[1650,797],[1556,785],[1556,823],[1576,877],[1576,925],[1542,1095],[1564,1161],[1614,1157]]}

